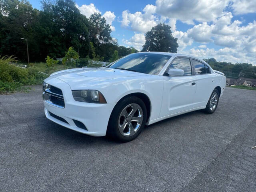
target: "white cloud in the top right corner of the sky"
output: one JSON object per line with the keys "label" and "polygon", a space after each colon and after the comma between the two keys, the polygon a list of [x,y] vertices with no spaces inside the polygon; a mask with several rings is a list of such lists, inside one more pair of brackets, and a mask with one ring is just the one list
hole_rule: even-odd
{"label": "white cloud in the top right corner of the sky", "polygon": [[234,0],[231,8],[234,11],[234,15],[246,14],[256,12],[255,0]]}

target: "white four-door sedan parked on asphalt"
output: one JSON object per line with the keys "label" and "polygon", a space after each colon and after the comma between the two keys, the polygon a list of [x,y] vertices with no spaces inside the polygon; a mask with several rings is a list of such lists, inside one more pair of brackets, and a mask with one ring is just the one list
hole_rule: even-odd
{"label": "white four-door sedan parked on asphalt", "polygon": [[204,109],[212,114],[226,77],[193,56],[140,52],[107,67],[55,72],[44,80],[48,119],[91,136],[136,138],[145,125]]}

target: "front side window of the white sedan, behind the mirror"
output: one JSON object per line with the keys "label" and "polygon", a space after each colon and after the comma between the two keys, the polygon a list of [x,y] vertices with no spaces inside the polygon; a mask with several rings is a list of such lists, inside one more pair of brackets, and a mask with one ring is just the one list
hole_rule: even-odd
{"label": "front side window of the white sedan, behind the mirror", "polygon": [[191,75],[191,65],[189,58],[177,58],[170,65],[170,69],[184,70],[184,76]]}

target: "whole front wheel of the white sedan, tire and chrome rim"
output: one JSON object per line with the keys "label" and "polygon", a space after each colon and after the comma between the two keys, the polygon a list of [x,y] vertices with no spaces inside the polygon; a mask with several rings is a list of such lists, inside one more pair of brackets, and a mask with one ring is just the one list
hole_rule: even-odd
{"label": "whole front wheel of the white sedan, tire and chrome rim", "polygon": [[147,111],[144,102],[129,96],[116,104],[108,123],[108,136],[128,142],[135,139],[146,123]]}

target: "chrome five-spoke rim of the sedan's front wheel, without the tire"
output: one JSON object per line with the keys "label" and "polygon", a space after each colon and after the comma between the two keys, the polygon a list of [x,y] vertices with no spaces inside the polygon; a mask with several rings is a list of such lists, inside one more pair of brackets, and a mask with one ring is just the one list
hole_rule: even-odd
{"label": "chrome five-spoke rim of the sedan's front wheel, without the tire", "polygon": [[142,108],[136,103],[129,104],[118,118],[119,131],[123,136],[132,136],[140,129],[142,121]]}

